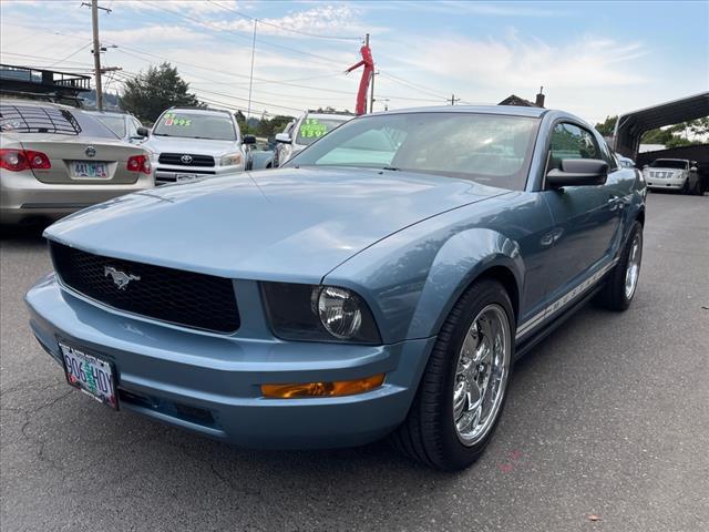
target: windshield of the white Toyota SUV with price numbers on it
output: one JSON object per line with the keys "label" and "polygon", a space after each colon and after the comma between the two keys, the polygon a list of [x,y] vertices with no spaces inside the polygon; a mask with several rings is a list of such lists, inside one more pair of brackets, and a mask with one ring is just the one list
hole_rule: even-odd
{"label": "windshield of the white Toyota SUV with price numbers on it", "polygon": [[235,141],[236,131],[226,114],[189,113],[168,111],[163,114],[153,132],[157,136],[181,136],[183,139],[212,139]]}

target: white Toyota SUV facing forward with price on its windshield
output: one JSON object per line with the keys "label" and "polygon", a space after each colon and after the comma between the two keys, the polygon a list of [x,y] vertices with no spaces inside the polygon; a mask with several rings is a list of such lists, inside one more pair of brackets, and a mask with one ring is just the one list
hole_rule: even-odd
{"label": "white Toyota SUV facing forward with price on its windshield", "polygon": [[153,153],[158,185],[210,177],[246,168],[245,144],[236,115],[203,108],[171,108],[155,122],[146,147]]}

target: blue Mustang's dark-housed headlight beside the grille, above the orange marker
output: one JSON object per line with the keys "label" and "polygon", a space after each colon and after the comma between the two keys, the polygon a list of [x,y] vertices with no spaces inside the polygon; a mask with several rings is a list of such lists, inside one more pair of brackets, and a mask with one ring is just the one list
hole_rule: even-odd
{"label": "blue Mustang's dark-housed headlight beside the grille, above the orange marker", "polygon": [[261,283],[274,334],[287,340],[381,344],[367,303],[335,286]]}

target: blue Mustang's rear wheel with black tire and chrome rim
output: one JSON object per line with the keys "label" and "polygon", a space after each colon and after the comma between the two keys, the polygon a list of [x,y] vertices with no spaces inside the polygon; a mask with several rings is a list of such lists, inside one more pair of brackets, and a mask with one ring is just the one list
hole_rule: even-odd
{"label": "blue Mustang's rear wheel with black tire and chrome rim", "polygon": [[637,291],[641,263],[643,225],[636,221],[628,235],[620,260],[608,274],[608,278],[594,303],[609,310],[626,310]]}

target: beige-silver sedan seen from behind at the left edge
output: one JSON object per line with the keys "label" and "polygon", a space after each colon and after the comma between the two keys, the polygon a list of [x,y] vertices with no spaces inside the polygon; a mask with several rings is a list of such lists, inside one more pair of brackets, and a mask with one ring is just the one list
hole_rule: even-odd
{"label": "beige-silver sedan seen from behind at the left edge", "polygon": [[150,154],[65,105],[0,100],[0,222],[56,219],[154,186]]}

